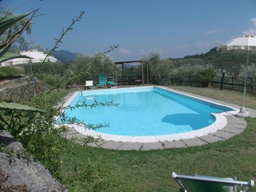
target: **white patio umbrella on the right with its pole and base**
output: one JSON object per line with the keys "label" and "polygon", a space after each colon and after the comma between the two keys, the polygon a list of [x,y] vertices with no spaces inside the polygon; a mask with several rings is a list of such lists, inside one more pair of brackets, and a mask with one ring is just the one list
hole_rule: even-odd
{"label": "white patio umbrella on the right with its pole and base", "polygon": [[218,50],[221,52],[228,52],[233,51],[237,53],[247,53],[247,59],[246,59],[246,68],[245,68],[245,78],[244,78],[244,96],[242,101],[242,106],[240,108],[240,112],[236,115],[238,117],[248,117],[249,113],[246,112],[244,107],[245,102],[245,93],[246,93],[246,81],[247,81],[247,75],[248,75],[248,59],[249,59],[249,53],[256,53],[256,37],[252,35],[242,35],[238,38],[233,38],[225,44],[222,44]]}

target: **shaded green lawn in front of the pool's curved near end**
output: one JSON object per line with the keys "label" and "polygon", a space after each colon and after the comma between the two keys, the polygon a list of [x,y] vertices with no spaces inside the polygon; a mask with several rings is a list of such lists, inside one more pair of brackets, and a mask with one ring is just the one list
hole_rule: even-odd
{"label": "shaded green lawn in front of the pool's curved near end", "polygon": [[[92,161],[101,154],[112,154],[100,163],[110,167],[120,186],[113,191],[179,191],[172,172],[216,177],[237,176],[256,180],[256,119],[247,120],[246,130],[229,140],[203,146],[159,151],[113,151],[74,145],[75,155],[63,154],[60,175],[73,172],[79,162]],[[86,189],[79,189],[86,191]],[[256,189],[254,188],[254,190]]]}

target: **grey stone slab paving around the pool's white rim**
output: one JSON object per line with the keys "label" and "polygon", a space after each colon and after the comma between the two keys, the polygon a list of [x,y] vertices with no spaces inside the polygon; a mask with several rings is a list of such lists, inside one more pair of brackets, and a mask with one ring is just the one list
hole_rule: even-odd
{"label": "grey stone slab paving around the pool's white rim", "polygon": [[[165,87],[166,88],[166,87]],[[168,88],[169,89],[169,88]],[[172,89],[170,89],[172,90]],[[177,90],[174,90],[177,91]],[[231,104],[223,101],[218,101],[216,99],[211,99],[207,97],[202,97],[195,94],[190,94],[186,92],[179,91],[188,95],[193,95],[199,98],[204,98],[207,100],[215,101],[221,104],[229,105],[234,108],[239,108],[236,104]],[[65,97],[64,100],[67,100],[71,97],[72,94],[69,94]],[[256,110],[248,109],[251,117],[256,117]],[[239,118],[234,115],[226,115],[227,125],[217,132],[210,133],[201,137],[195,137],[191,139],[177,140],[177,141],[159,141],[153,143],[138,143],[138,142],[116,142],[116,141],[107,141],[101,140],[99,143],[89,143],[88,146],[92,147],[102,147],[111,150],[136,150],[136,151],[147,151],[147,150],[163,150],[166,148],[179,148],[179,147],[188,147],[188,146],[200,146],[208,143],[214,143],[218,141],[227,140],[233,136],[241,134],[246,129],[246,121],[244,118]],[[67,139],[72,137],[84,138],[86,136],[77,133],[73,127],[69,128],[69,132],[64,136]]]}

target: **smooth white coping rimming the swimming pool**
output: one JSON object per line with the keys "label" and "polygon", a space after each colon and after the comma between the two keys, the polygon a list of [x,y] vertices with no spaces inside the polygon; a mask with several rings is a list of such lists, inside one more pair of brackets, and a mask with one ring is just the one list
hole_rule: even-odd
{"label": "smooth white coping rimming the swimming pool", "polygon": [[[84,126],[79,126],[76,124],[64,124],[67,125],[69,127],[74,127],[74,129],[82,134],[82,135],[90,135],[93,136],[95,138],[98,138],[99,136],[104,139],[104,140],[111,140],[111,141],[122,141],[122,142],[159,142],[159,141],[174,141],[174,140],[184,140],[184,139],[190,139],[190,138],[195,138],[195,137],[200,137],[203,135],[207,135],[210,133],[214,133],[218,130],[223,129],[226,124],[227,124],[227,119],[224,115],[234,115],[237,114],[239,112],[239,109],[237,108],[233,108],[231,106],[228,105],[224,105],[224,104],[220,104],[218,102],[214,102],[214,101],[210,101],[207,99],[202,99],[202,98],[198,98],[195,96],[191,96],[191,95],[187,95],[184,93],[180,93],[178,91],[173,91],[173,90],[169,90],[167,88],[163,88],[163,87],[159,87],[159,86],[144,86],[144,87],[132,87],[132,88],[115,88],[118,89],[119,91],[121,90],[127,90],[127,89],[143,89],[143,88],[159,88],[159,89],[163,89],[169,92],[173,92],[173,93],[177,93],[186,97],[190,97],[190,98],[194,98],[197,100],[201,100],[201,101],[205,101],[208,103],[212,103],[215,105],[219,105],[219,106],[223,106],[225,108],[229,108],[232,109],[232,111],[228,111],[228,112],[223,112],[223,113],[211,113],[212,116],[214,116],[216,118],[215,122],[212,123],[209,126],[206,126],[202,129],[199,130],[194,130],[194,131],[190,131],[190,132],[186,132],[186,133],[178,133],[178,134],[172,134],[172,135],[160,135],[160,136],[122,136],[122,135],[112,135],[112,134],[105,134],[105,133],[100,133],[97,131],[93,131],[93,130],[89,130],[89,129],[84,129]],[[115,89],[109,89],[109,90],[93,90],[93,91],[82,91],[82,92],[111,92]],[[63,107],[67,107],[73,100],[74,98],[80,94],[80,91],[75,92],[62,106]],[[57,120],[58,117],[56,117],[55,119]],[[55,126],[58,126],[57,124]]]}

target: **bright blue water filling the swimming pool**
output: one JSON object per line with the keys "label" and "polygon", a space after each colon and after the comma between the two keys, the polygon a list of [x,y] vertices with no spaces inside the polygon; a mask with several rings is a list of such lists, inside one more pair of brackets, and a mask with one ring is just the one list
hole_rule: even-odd
{"label": "bright blue water filling the swimming pool", "polygon": [[232,111],[157,87],[83,92],[83,96],[77,95],[70,105],[81,101],[91,104],[94,99],[113,100],[119,105],[66,110],[66,114],[85,123],[109,123],[110,127],[97,131],[123,136],[158,136],[198,130],[214,123],[215,118],[210,113]]}

